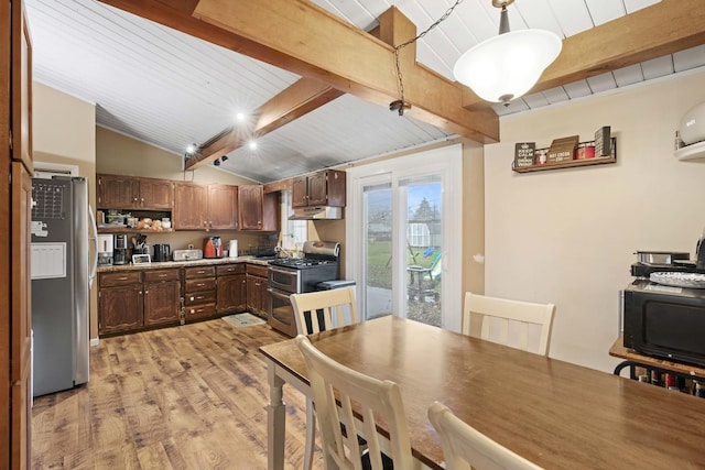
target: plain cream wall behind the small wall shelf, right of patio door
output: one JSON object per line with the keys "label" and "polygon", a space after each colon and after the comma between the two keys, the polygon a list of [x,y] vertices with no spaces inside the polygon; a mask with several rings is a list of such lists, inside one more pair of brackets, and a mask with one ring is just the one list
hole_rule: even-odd
{"label": "plain cream wall behind the small wall shelf, right of patio door", "polygon": [[[637,250],[693,253],[705,227],[705,161],[673,157],[683,113],[705,101],[705,72],[501,119],[485,153],[486,294],[553,302],[551,357],[611,371],[619,291]],[[519,174],[516,142],[617,138],[617,163]],[[693,255],[693,254],[692,254]]]}

